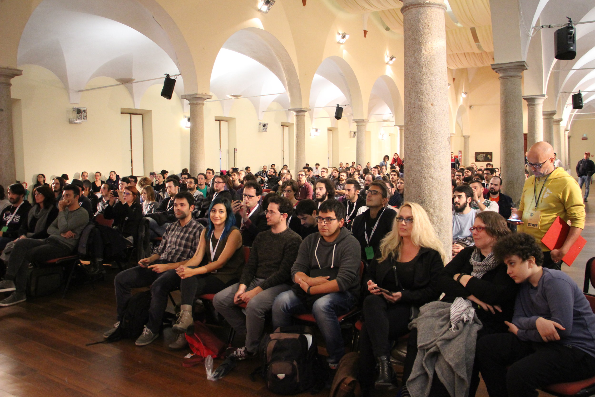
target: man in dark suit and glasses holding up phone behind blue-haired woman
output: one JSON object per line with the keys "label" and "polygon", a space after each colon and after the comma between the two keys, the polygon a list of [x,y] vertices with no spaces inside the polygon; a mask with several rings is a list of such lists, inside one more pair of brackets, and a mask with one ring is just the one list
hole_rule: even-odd
{"label": "man in dark suit and glasses holding up phone behind blue-haired woman", "polygon": [[242,201],[234,201],[231,205],[236,214],[236,226],[242,232],[242,244],[252,246],[256,235],[270,229],[267,217],[259,203],[262,196],[261,185],[253,180],[244,184]]}

